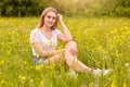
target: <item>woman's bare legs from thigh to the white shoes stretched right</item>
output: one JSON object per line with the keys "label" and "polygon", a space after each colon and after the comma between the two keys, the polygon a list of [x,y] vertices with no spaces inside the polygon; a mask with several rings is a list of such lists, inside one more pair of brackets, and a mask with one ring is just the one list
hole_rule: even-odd
{"label": "woman's bare legs from thigh to the white shoes stretched right", "polygon": [[46,65],[51,65],[57,62],[65,62],[70,70],[74,70],[76,72],[81,73],[91,73],[95,76],[100,76],[102,73],[105,75],[109,74],[112,71],[109,70],[93,70],[82,62],[80,62],[78,59],[78,51],[77,51],[77,45],[75,41],[69,41],[65,47],[64,53],[57,53],[49,59],[46,60]]}

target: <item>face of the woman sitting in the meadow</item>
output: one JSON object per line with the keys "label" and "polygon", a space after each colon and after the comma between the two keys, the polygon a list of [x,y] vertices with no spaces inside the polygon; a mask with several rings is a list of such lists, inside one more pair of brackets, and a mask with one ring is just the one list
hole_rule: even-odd
{"label": "face of the woman sitting in the meadow", "polygon": [[46,16],[44,16],[44,25],[48,27],[52,27],[56,22],[56,14],[52,11],[50,11]]}

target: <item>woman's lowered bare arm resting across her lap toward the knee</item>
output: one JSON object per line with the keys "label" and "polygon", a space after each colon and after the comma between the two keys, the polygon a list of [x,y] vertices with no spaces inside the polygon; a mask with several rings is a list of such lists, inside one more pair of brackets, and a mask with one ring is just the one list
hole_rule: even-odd
{"label": "woman's lowered bare arm resting across her lap toward the knee", "polygon": [[34,42],[32,46],[36,49],[36,51],[38,52],[39,57],[47,57],[47,58],[49,58],[49,57],[55,55],[57,53],[63,53],[64,52],[64,49],[54,50],[54,51],[44,51],[42,49],[41,42],[39,42],[39,41]]}

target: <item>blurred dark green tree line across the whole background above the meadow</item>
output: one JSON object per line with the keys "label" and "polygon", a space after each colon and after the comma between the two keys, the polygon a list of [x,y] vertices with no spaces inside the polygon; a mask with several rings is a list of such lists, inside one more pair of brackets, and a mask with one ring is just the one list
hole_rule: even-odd
{"label": "blurred dark green tree line across the whole background above the meadow", "polygon": [[68,16],[130,17],[130,0],[0,0],[0,16],[38,16],[47,7]]}

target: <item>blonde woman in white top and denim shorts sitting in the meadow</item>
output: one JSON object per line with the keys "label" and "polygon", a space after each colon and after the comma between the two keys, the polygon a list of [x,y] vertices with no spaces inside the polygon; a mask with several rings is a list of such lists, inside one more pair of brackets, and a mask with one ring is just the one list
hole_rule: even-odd
{"label": "blonde woman in white top and denim shorts sitting in the meadow", "polygon": [[[56,28],[57,22],[63,28],[63,34]],[[57,40],[66,42],[64,49],[56,50]],[[63,22],[63,16],[57,14],[53,8],[43,10],[38,26],[30,33],[32,44],[34,63],[39,65],[51,65],[60,61],[65,62],[70,71],[101,75],[109,73],[109,70],[93,70],[82,62],[78,57],[77,44]]]}

